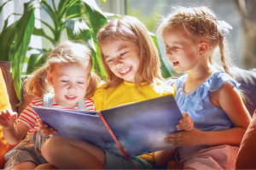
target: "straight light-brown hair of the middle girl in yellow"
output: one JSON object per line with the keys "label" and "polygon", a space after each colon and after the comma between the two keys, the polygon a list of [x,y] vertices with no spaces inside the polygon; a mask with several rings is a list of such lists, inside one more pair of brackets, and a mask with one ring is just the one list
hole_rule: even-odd
{"label": "straight light-brown hair of the middle girl in yellow", "polygon": [[[135,17],[122,16],[119,19],[111,20],[98,32],[99,45],[107,40],[119,39],[135,43],[139,48],[140,64],[135,76],[135,83],[141,86],[141,82],[153,83],[154,78],[163,80],[160,72],[160,58],[157,48],[150,37],[148,30]],[[113,74],[101,50],[102,64],[108,74],[106,88],[117,87],[124,82]]]}

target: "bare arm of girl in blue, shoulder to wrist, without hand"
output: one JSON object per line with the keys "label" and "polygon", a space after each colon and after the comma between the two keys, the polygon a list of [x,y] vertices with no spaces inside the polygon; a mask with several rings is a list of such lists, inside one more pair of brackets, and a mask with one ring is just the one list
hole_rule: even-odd
{"label": "bare arm of girl in blue, shoulder to wrist, without hand", "polygon": [[209,98],[213,105],[222,108],[226,112],[234,127],[223,131],[205,132],[203,134],[203,144],[240,144],[251,122],[251,116],[236,87],[232,82],[224,82],[221,88],[209,94]]}

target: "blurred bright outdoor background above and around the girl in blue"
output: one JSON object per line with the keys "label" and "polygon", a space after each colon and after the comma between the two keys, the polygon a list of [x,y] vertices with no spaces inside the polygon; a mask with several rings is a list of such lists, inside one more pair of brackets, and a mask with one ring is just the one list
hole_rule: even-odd
{"label": "blurred bright outdoor background above and around the girl in blue", "polygon": [[[231,59],[234,65],[251,69],[256,67],[256,1],[255,0],[127,0],[125,14],[136,16],[155,33],[161,16],[170,13],[173,6],[207,5],[217,14],[218,20],[225,20],[230,26],[229,42]],[[160,53],[165,55],[165,47],[160,43]],[[172,68],[172,64],[166,63]]]}

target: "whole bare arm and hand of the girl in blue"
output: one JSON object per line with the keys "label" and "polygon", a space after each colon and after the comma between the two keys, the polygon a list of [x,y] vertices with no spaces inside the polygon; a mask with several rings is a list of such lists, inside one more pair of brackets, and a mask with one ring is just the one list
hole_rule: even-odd
{"label": "whole bare arm and hand of the girl in blue", "polygon": [[209,98],[213,105],[222,108],[227,113],[234,127],[214,132],[202,132],[194,128],[188,132],[168,134],[167,142],[177,146],[194,146],[198,144],[235,145],[241,143],[241,139],[251,122],[251,116],[243,104],[236,87],[231,82],[224,82],[218,91],[209,94]]}

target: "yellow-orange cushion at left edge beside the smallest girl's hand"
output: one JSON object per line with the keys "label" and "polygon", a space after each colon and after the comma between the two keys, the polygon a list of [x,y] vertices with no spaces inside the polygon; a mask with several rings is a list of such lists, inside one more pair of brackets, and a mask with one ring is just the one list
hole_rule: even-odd
{"label": "yellow-orange cushion at left edge beside the smallest girl's hand", "polygon": [[[11,106],[9,104],[9,96],[7,93],[6,85],[3,79],[2,70],[0,68],[0,111],[3,111],[5,109],[11,109]],[[3,168],[5,159],[4,155],[9,150],[13,149],[15,145],[10,145],[8,142],[3,138],[3,127],[0,126],[0,169]]]}

